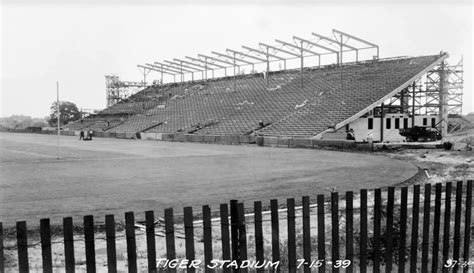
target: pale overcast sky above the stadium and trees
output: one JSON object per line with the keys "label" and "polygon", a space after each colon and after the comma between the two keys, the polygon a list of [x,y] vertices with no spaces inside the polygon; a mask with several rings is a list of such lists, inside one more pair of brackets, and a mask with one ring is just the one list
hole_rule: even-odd
{"label": "pale overcast sky above the stadium and trees", "polygon": [[61,100],[102,109],[106,74],[140,81],[137,64],[333,28],[378,44],[381,58],[463,55],[463,112],[474,112],[473,5],[420,1],[2,1],[0,115],[49,115],[56,81]]}

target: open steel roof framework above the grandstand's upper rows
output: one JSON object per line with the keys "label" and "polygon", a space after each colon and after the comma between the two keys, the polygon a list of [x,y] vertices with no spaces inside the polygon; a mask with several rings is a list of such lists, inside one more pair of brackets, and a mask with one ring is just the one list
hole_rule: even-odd
{"label": "open steel roof framework above the grandstand's upper rows", "polygon": [[[318,65],[320,66],[322,55],[335,55],[337,64],[342,64],[343,52],[355,52],[357,62],[359,61],[358,55],[361,50],[376,49],[376,57],[378,58],[378,45],[336,29],[333,29],[332,33],[335,39],[317,33],[312,33],[313,39],[305,39],[293,36],[293,42],[286,42],[276,39],[275,41],[277,45],[259,43],[259,49],[242,46],[246,52],[226,49],[225,54],[212,51],[212,54],[215,56],[198,54],[197,58],[186,56],[186,60],[175,58],[173,61],[164,60],[163,63],[147,63],[145,66],[138,65],[138,67],[144,69],[144,74],[146,73],[146,69],[149,70],[148,73],[150,71],[160,72],[161,81],[163,82],[164,74],[173,75],[174,81],[176,81],[176,75],[180,75],[181,81],[183,81],[184,74],[191,74],[192,80],[194,81],[194,73],[201,72],[202,78],[207,80],[208,70],[211,70],[212,78],[214,78],[215,70],[224,70],[224,74],[227,76],[227,69],[233,68],[233,76],[236,76],[237,74],[240,74],[240,68],[242,66],[249,65],[252,67],[252,72],[254,72],[255,65],[266,64],[265,75],[268,85],[268,75],[270,72],[271,62],[283,61],[284,69],[286,69],[287,60],[300,59],[300,72],[302,74],[304,69],[304,60],[308,57],[318,57]],[[363,44],[363,46],[350,44],[352,41]]]}

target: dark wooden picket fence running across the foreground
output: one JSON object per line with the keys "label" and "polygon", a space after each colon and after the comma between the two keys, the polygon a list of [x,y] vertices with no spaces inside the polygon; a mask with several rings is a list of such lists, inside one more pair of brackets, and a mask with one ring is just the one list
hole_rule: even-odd
{"label": "dark wooden picket fence running across the foreground", "polygon": [[[204,245],[204,265],[211,265],[212,260],[219,258],[230,260],[236,264],[253,260],[258,264],[265,263],[265,254],[269,257],[269,247],[264,247],[264,234],[262,229],[262,215],[269,214],[271,222],[271,261],[276,263],[283,259],[281,254],[282,244],[287,252],[287,263],[280,265],[275,271],[282,272],[472,272],[474,261],[470,256],[471,217],[472,217],[472,180],[458,181],[445,184],[425,184],[424,193],[421,186],[401,187],[395,189],[360,190],[357,194],[358,202],[354,202],[355,194],[351,191],[340,195],[337,192],[330,196],[317,195],[316,202],[311,204],[310,198],[302,198],[301,207],[296,207],[295,199],[287,199],[286,209],[281,209],[277,200],[271,200],[269,211],[264,212],[262,202],[254,203],[252,213],[245,214],[243,203],[232,200],[230,206],[221,204],[217,219],[212,219],[209,206],[203,206],[202,228]],[[397,192],[399,191],[399,192]],[[369,194],[370,195],[369,195]],[[396,193],[400,200],[396,200]],[[453,197],[454,195],[454,197]],[[369,197],[373,196],[373,200]],[[398,196],[398,195],[397,195]],[[384,198],[383,198],[384,197]],[[410,198],[411,197],[411,198]],[[421,199],[420,199],[421,197]],[[370,202],[368,202],[370,201]],[[340,202],[343,202],[341,209]],[[328,203],[329,206],[325,206]],[[368,203],[373,203],[369,206]],[[454,218],[452,218],[454,203]],[[357,206],[354,206],[356,204]],[[328,209],[326,209],[328,207]],[[316,208],[317,213],[311,215],[311,209]],[[295,220],[296,211],[301,209],[302,237],[297,236]],[[394,213],[397,209],[399,213]],[[280,229],[281,211],[286,211],[287,231]],[[200,240],[195,238],[195,216],[192,207],[184,208],[182,215],[184,225],[185,258],[194,260],[196,257],[195,244]],[[411,212],[409,214],[409,212]],[[254,244],[249,257],[247,228],[250,221],[246,219],[253,216]],[[317,216],[317,238],[311,240],[311,217]],[[327,217],[326,217],[327,216]],[[341,232],[340,217],[344,216],[344,231]],[[326,222],[326,218],[330,221]],[[358,225],[355,225],[357,218]],[[166,258],[177,259],[175,220],[173,209],[165,209],[165,237]],[[421,221],[422,220],[422,221]],[[201,222],[201,221],[200,221]],[[220,223],[220,253],[213,253],[212,223]],[[441,222],[443,225],[441,225]],[[313,222],[314,223],[314,222]],[[116,225],[114,215],[105,217],[105,237],[107,245],[107,268],[109,272],[117,271],[116,252]],[[165,269],[157,267],[156,252],[156,218],[153,211],[145,213],[146,227],[146,253],[149,272],[161,272]],[[330,236],[325,235],[326,227],[330,225]],[[420,228],[421,227],[421,228]],[[71,217],[63,219],[64,265],[66,272],[76,269],[74,257],[73,221]],[[316,227],[315,227],[316,228]],[[383,229],[385,228],[385,229]],[[137,272],[137,244],[136,221],[133,212],[125,213],[125,233],[127,245],[127,265],[129,272]],[[287,235],[286,241],[281,240],[281,232]],[[85,240],[85,257],[87,272],[96,272],[96,253],[94,239],[93,216],[85,216],[83,223]],[[5,272],[3,228],[0,223],[0,272]],[[51,251],[51,226],[49,219],[40,221],[41,255],[43,272],[53,272],[53,259]],[[314,237],[315,234],[313,234]],[[408,237],[410,235],[410,237]],[[17,222],[17,252],[18,270],[28,272],[28,240],[25,221]],[[325,238],[329,237],[329,238]],[[357,239],[355,238],[357,237]],[[344,242],[341,243],[340,239]],[[396,238],[396,240],[395,240]],[[408,242],[408,238],[411,240]],[[301,240],[301,242],[298,242]],[[327,251],[327,242],[330,242],[330,251]],[[397,245],[394,245],[397,242]],[[302,247],[297,248],[297,243]],[[314,245],[316,244],[316,246]],[[298,253],[297,249],[302,249]],[[317,251],[316,251],[317,250]],[[344,251],[342,251],[344,250]],[[357,250],[357,251],[356,251]],[[421,252],[421,256],[419,255]],[[356,255],[357,253],[357,255]],[[158,256],[159,257],[159,256]],[[317,257],[317,259],[315,259]],[[394,257],[398,257],[394,259]],[[179,258],[179,257],[178,257]],[[308,262],[299,264],[298,259],[304,258]],[[470,260],[471,259],[471,260]],[[314,262],[315,260],[321,262]],[[350,261],[350,264],[341,262]],[[229,262],[230,264],[230,262]],[[275,265],[275,264],[273,264]],[[449,266],[446,266],[449,265]],[[16,269],[15,269],[16,270]],[[187,268],[187,272],[214,272],[205,266],[202,269]],[[248,272],[248,268],[235,269],[224,267],[219,272]],[[166,272],[176,272],[176,268],[167,268]],[[250,271],[254,271],[250,269]],[[268,271],[259,268],[257,272]]]}

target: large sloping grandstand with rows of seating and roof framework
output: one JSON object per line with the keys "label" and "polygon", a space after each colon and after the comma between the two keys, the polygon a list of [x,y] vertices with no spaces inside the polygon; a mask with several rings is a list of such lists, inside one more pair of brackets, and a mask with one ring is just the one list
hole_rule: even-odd
{"label": "large sloping grandstand with rows of seating and roof framework", "polygon": [[[359,39],[350,35],[348,37]],[[375,48],[375,45],[368,44],[370,48]],[[203,78],[199,80],[194,80],[192,73],[193,80],[146,87],[67,128],[131,135],[173,133],[294,138],[324,138],[325,133],[354,128],[357,130],[357,141],[366,141],[367,137],[361,135],[368,133],[373,135],[374,141],[400,140],[401,136],[392,130],[421,122],[426,125],[425,119],[428,118],[433,118],[433,127],[443,129],[447,113],[452,113],[445,103],[448,96],[443,99],[439,90],[426,92],[427,89],[421,87],[421,83],[426,77],[424,75],[432,71],[438,71],[439,81],[446,77],[448,72],[440,67],[447,67],[447,53],[389,59],[376,56],[366,61],[356,59],[355,62],[343,63],[343,46],[354,48],[341,43],[341,52],[329,52],[337,55],[335,64],[319,63],[317,66],[303,67],[302,59],[300,69],[270,71],[267,63],[265,73],[252,70],[253,73],[246,75],[234,74],[213,79],[207,78],[206,70],[206,76],[203,72]],[[301,49],[303,58],[303,47]],[[356,49],[356,53],[362,49]],[[290,53],[282,48],[279,50]],[[378,47],[376,50],[378,54]],[[267,62],[269,56],[273,55],[267,51]],[[206,62],[207,58],[211,58],[205,57]],[[321,60],[321,56],[318,57]],[[233,58],[235,71],[235,53]],[[214,65],[218,66],[216,63]],[[208,65],[211,63],[206,63],[206,69]],[[169,70],[165,70],[161,66],[160,70],[156,67],[150,65],[148,68],[161,72],[162,76],[163,73],[179,69],[170,66]],[[183,76],[184,72],[181,70],[176,73]],[[425,104],[421,102],[420,96],[423,96]],[[430,104],[426,101],[430,101]],[[436,103],[439,107],[437,113],[426,111]],[[412,122],[391,128],[389,121],[384,126],[385,118],[411,118]],[[365,124],[369,122],[368,119],[372,119],[372,125],[368,126],[370,132],[367,128],[359,128],[361,122]],[[345,135],[341,134],[341,137]]]}

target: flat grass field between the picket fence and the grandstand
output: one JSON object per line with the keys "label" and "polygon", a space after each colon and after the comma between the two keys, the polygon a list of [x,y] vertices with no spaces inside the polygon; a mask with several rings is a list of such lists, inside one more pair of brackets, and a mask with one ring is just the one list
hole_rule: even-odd
{"label": "flat grass field between the picket fence and the grandstand", "polygon": [[105,214],[316,196],[332,188],[392,185],[417,172],[370,154],[0,133],[0,221]]}

